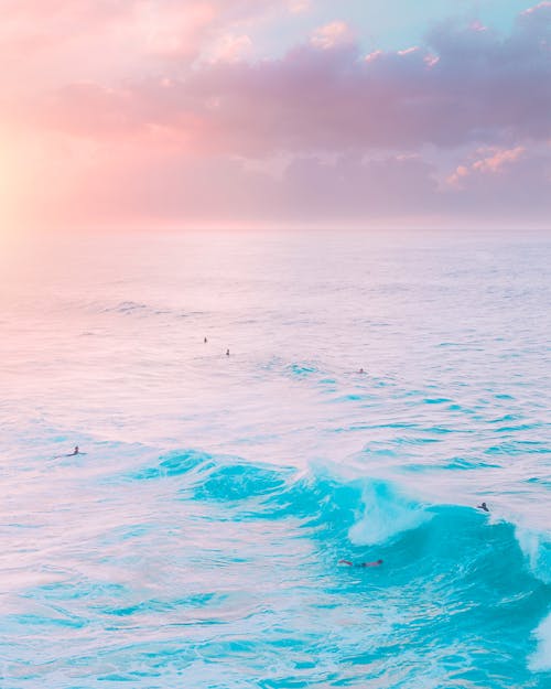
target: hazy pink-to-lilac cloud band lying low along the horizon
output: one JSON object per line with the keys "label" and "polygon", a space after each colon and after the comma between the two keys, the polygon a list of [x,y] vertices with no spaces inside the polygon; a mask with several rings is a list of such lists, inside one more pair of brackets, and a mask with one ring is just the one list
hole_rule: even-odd
{"label": "hazy pink-to-lilac cloud band lying low along the horizon", "polygon": [[420,154],[252,162],[205,155],[163,137],[152,131],[154,144],[147,147],[120,138],[33,139],[26,160],[18,155],[25,193],[7,193],[24,220],[42,225],[47,218],[50,226],[71,228],[526,227],[544,225],[551,213],[550,147],[474,149],[451,184]]}

